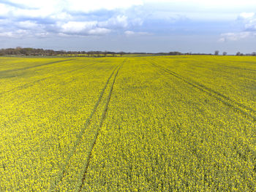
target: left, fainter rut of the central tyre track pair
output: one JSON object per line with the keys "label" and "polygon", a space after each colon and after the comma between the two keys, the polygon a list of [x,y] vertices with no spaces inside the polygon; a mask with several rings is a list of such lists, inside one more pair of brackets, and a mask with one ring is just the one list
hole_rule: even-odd
{"label": "left, fainter rut of the central tyre track pair", "polygon": [[91,124],[91,119],[92,117],[94,116],[94,113],[96,112],[98,106],[99,106],[99,103],[100,101],[102,100],[102,96],[103,94],[105,93],[105,89],[107,88],[109,82],[110,82],[110,79],[111,77],[113,77],[113,74],[114,72],[116,71],[116,69],[118,69],[118,67],[120,67],[121,64],[119,64],[118,66],[116,66],[114,69],[113,69],[113,72],[110,74],[110,77],[108,77],[108,80],[107,82],[105,83],[105,86],[104,88],[102,88],[102,91],[99,93],[99,98],[96,102],[96,104],[94,104],[94,108],[93,110],[91,111],[91,114],[89,116],[89,118],[87,118],[86,120],[86,123],[85,123],[85,126],[80,130],[79,134],[78,134],[78,137],[75,141],[75,145],[72,147],[72,150],[69,152],[69,154],[67,155],[67,158],[65,159],[65,163],[63,164],[63,166],[61,167],[61,170],[59,172],[59,174],[57,175],[57,179],[56,180],[53,180],[51,183],[50,183],[50,186],[48,188],[48,191],[54,191],[56,186],[61,182],[62,178],[64,177],[64,173],[66,172],[66,169],[67,169],[67,166],[69,164],[69,161],[70,161],[70,158],[72,158],[72,155],[75,153],[75,150],[77,149],[78,145],[80,144],[80,141],[83,137],[83,134],[84,132],[86,131],[86,128]]}

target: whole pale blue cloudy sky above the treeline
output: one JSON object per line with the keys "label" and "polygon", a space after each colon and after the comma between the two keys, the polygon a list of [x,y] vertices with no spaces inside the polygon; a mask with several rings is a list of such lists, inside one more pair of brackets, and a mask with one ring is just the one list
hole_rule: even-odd
{"label": "whole pale blue cloudy sky above the treeline", "polygon": [[256,1],[0,0],[0,48],[256,51]]}

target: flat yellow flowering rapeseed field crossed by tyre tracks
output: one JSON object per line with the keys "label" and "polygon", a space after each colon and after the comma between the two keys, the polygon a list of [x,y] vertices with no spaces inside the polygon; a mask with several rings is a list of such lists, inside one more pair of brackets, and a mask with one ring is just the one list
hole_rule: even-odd
{"label": "flat yellow flowering rapeseed field crossed by tyre tracks", "polygon": [[0,191],[255,190],[255,57],[0,57]]}

